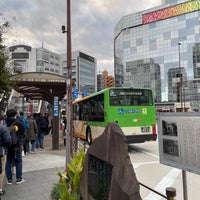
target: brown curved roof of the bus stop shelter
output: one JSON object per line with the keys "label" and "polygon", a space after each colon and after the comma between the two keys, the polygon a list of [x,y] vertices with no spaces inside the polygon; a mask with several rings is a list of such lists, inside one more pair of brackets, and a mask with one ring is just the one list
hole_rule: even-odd
{"label": "brown curved roof of the bus stop shelter", "polygon": [[44,100],[53,105],[54,97],[62,100],[66,94],[66,77],[44,72],[28,72],[10,77],[13,89],[32,100]]}

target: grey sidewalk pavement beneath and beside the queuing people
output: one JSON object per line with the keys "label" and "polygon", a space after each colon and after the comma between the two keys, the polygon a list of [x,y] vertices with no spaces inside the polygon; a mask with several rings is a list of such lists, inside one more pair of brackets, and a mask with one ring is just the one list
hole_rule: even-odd
{"label": "grey sidewalk pavement beneath and beside the queuing people", "polygon": [[52,150],[52,135],[45,136],[44,151],[37,150],[35,154],[23,157],[23,178],[26,182],[7,185],[6,177],[3,188],[6,193],[1,200],[50,200],[52,185],[59,180],[56,167],[65,169],[66,149],[63,139],[59,141],[60,150]]}

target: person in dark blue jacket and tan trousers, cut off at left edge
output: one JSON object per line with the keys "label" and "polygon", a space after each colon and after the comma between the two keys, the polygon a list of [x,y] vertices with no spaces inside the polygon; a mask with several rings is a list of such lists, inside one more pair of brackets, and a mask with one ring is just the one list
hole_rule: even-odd
{"label": "person in dark blue jacket and tan trousers, cut off at left edge", "polygon": [[10,132],[3,123],[4,117],[0,114],[0,195],[5,193],[5,190],[3,190],[3,180],[5,176],[6,152],[11,145]]}

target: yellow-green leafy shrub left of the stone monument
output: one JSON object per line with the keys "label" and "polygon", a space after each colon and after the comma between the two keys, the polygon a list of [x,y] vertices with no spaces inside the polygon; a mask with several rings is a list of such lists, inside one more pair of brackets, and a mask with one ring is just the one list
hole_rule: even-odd
{"label": "yellow-green leafy shrub left of the stone monument", "polygon": [[51,200],[80,200],[80,175],[85,160],[84,150],[80,150],[67,164],[67,171],[57,170],[58,183],[53,184]]}

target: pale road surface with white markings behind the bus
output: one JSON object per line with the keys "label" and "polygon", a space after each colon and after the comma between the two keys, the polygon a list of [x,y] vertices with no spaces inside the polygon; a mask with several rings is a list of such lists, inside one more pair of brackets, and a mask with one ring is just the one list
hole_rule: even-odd
{"label": "pale road surface with white markings behind the bus", "polygon": [[[159,162],[157,142],[146,142],[129,147],[129,155],[139,182],[165,194],[166,187],[174,187],[176,200],[183,200],[182,171]],[[188,200],[199,200],[200,176],[186,172]],[[143,200],[163,200],[160,196],[140,187]]]}

